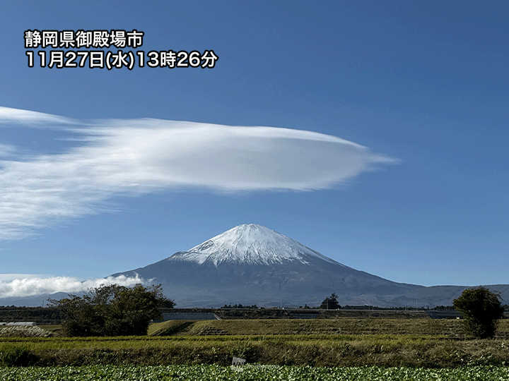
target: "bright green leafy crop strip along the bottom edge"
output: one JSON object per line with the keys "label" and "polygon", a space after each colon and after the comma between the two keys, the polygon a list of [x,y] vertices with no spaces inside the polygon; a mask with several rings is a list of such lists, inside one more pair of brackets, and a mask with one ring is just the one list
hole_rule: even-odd
{"label": "bright green leafy crop strip along the bottom edge", "polygon": [[509,368],[474,367],[458,369],[423,368],[310,368],[310,367],[221,367],[216,365],[112,366],[94,365],[64,368],[0,368],[6,381],[156,381],[156,380],[330,380],[330,381],[500,381],[509,379]]}

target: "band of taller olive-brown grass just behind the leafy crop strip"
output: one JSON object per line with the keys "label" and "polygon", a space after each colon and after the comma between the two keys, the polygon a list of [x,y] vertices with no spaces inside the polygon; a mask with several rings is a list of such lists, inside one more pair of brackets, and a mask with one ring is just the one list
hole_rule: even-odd
{"label": "band of taller olive-brown grass just behind the leafy crop strip", "polygon": [[[509,344],[501,340],[292,340],[240,337],[222,341],[184,340],[64,341],[11,338],[0,341],[0,365],[228,365],[232,357],[247,363],[310,366],[406,366],[461,368],[507,366]],[[221,339],[221,340],[220,340]],[[302,338],[300,338],[302,339]],[[1,380],[1,378],[0,378]],[[509,380],[509,379],[508,379]]]}

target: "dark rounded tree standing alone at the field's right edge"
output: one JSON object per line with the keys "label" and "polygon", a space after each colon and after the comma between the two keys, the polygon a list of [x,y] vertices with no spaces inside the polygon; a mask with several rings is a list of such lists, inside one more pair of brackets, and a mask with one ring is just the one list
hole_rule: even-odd
{"label": "dark rounded tree standing alone at the field's right edge", "polygon": [[453,305],[462,314],[465,328],[479,339],[493,337],[503,317],[500,294],[485,287],[464,290]]}

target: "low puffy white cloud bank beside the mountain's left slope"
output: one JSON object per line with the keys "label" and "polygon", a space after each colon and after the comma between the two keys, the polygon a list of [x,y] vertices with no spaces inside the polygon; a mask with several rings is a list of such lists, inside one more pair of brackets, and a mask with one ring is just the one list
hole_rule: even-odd
{"label": "low puffy white cloud bank beside the mountain's left slope", "polygon": [[88,279],[81,281],[74,277],[32,277],[9,279],[10,274],[4,275],[4,280],[0,280],[0,298],[16,298],[23,296],[34,296],[41,294],[54,294],[56,292],[66,292],[69,294],[87,291],[101,285],[119,284],[120,286],[131,287],[135,284],[146,284],[144,279],[138,275],[136,277],[107,277],[102,279]]}

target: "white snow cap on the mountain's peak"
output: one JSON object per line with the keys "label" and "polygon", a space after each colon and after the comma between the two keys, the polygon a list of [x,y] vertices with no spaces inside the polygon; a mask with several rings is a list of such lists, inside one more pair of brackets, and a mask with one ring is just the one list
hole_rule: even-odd
{"label": "white snow cap on the mountain's peak", "polygon": [[174,259],[190,260],[199,264],[211,262],[216,266],[221,262],[270,265],[287,260],[308,263],[306,257],[309,256],[337,263],[265,226],[242,224],[186,252],[178,253]]}

